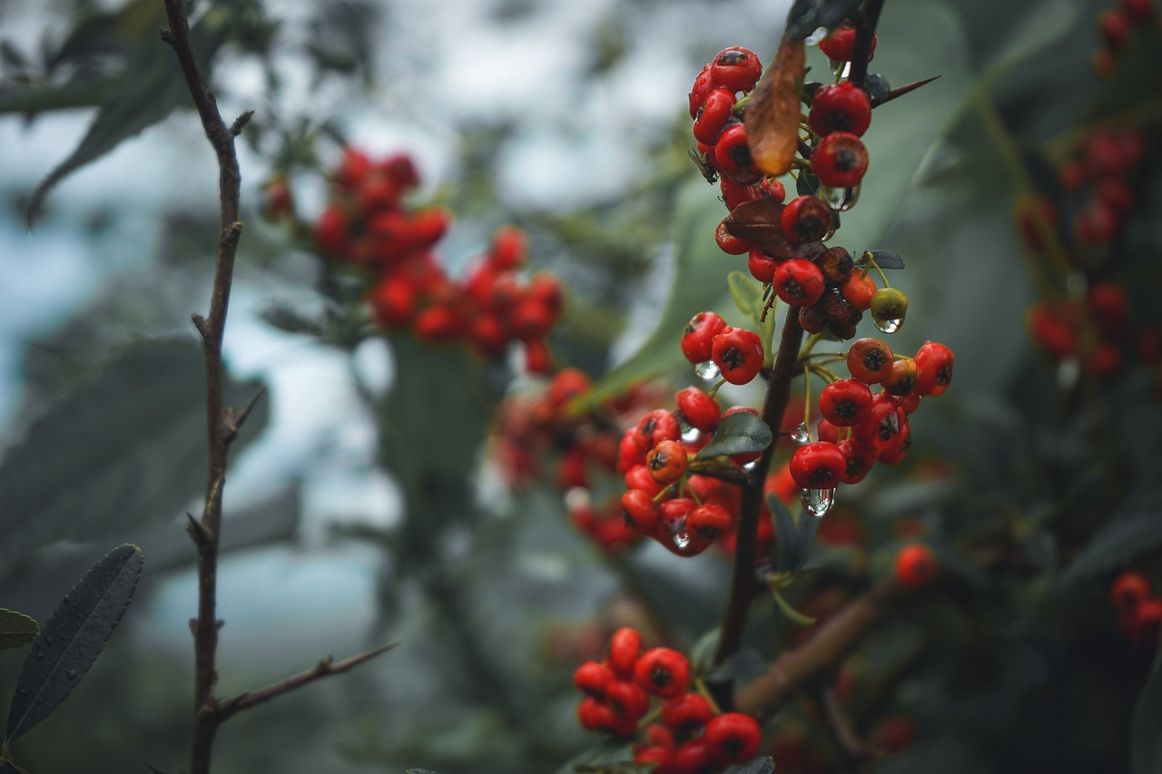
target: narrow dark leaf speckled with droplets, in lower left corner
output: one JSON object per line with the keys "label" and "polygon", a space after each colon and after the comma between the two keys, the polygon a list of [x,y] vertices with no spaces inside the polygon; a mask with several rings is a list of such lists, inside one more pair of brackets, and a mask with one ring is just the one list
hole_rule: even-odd
{"label": "narrow dark leaf speckled with droplets, in lower left corner", "polygon": [[93,666],[129,605],[142,566],[141,549],[117,546],[62,597],[21,666],[5,744],[48,717]]}

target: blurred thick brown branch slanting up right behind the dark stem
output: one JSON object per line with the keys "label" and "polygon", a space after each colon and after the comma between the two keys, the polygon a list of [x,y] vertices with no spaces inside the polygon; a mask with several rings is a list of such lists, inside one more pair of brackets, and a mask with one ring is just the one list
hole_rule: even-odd
{"label": "blurred thick brown branch slanting up right behind the dark stem", "polygon": [[895,588],[890,583],[875,586],[819,624],[813,637],[783,653],[765,675],[740,688],[734,696],[734,709],[760,723],[769,717],[792,690],[839,662],[880,618]]}

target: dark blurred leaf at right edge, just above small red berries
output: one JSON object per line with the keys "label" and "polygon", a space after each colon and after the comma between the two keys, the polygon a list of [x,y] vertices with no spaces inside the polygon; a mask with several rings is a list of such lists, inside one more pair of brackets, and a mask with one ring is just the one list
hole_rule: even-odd
{"label": "dark blurred leaf at right edge, just above small red berries", "polygon": [[1057,578],[1054,590],[1067,593],[1077,583],[1120,569],[1162,547],[1162,486],[1138,489],[1098,531]]}

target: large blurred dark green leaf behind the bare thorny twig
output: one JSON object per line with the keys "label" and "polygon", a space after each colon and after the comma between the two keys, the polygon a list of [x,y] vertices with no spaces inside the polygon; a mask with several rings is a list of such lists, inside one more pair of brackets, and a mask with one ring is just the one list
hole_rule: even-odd
{"label": "large blurred dark green leaf behind the bare thorny twig", "polygon": [[[122,542],[172,519],[206,486],[206,378],[194,338],[117,350],[33,422],[0,460],[0,576],[57,540]],[[227,379],[228,404],[245,406],[256,381]],[[258,437],[259,401],[231,452]]]}

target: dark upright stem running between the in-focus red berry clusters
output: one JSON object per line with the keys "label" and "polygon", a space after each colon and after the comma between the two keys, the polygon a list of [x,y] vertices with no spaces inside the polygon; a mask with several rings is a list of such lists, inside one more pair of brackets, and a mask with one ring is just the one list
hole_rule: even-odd
{"label": "dark upright stem running between the in-focus red berry clusters", "polygon": [[[779,342],[779,353],[770,370],[770,381],[767,385],[767,397],[762,404],[762,421],[772,432],[777,432],[783,422],[783,413],[791,396],[791,378],[797,373],[799,346],[803,344],[803,328],[798,315],[791,309],[783,323],[782,338]],[[726,602],[726,615],[723,618],[718,647],[715,651],[715,664],[722,664],[738,652],[743,642],[743,629],[751,602],[760,588],[754,576],[754,561],[758,552],[759,514],[762,510],[762,489],[770,470],[770,460],[775,454],[775,442],[763,450],[758,464],[751,471],[743,496],[739,502],[738,543],[734,546],[734,569],[731,578],[730,599]]]}

